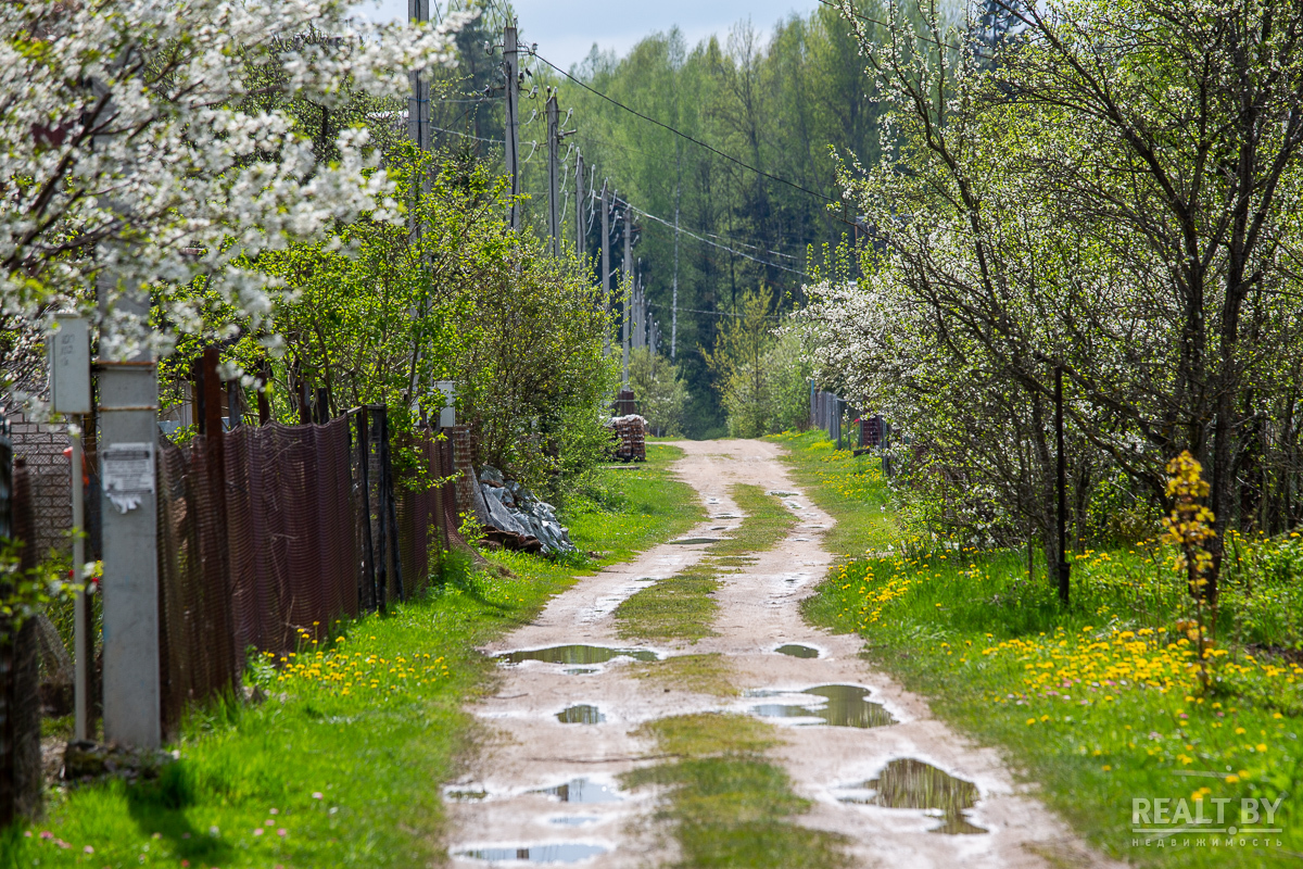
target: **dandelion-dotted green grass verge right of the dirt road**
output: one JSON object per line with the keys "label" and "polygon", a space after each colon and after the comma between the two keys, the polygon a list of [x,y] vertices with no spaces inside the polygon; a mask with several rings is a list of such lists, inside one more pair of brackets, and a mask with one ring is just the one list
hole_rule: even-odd
{"label": "dandelion-dotted green grass verge right of the dirt road", "polygon": [[[1149,545],[1078,554],[1072,606],[1063,610],[1044,564],[1028,577],[1024,551],[903,548],[878,508],[889,500],[881,482],[850,494],[844,486],[865,459],[833,455],[810,435],[783,440],[799,478],[816,481],[810,495],[839,524],[830,539],[843,559],[807,603],[812,623],[864,636],[873,661],[929,696],[941,718],[1002,747],[1105,852],[1139,865],[1299,865],[1303,666],[1255,658],[1243,645],[1299,638],[1289,615],[1273,615],[1295,599],[1299,572],[1281,565],[1303,563],[1298,539],[1244,546],[1256,567],[1224,591],[1218,640],[1227,654],[1204,694],[1177,627],[1187,597],[1171,578],[1170,552]],[[859,555],[889,545],[889,558]],[[1131,833],[1132,799],[1184,799],[1194,812],[1200,788],[1209,788],[1209,814],[1212,799],[1235,806],[1283,795],[1276,817],[1283,833],[1270,847],[1234,853],[1132,847],[1144,839]]]}

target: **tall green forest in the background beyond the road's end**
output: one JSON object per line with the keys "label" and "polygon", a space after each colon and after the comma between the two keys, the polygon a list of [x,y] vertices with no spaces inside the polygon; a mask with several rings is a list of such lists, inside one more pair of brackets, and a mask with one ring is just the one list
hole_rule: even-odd
{"label": "tall green forest in the background beyond the road's end", "polygon": [[[861,0],[857,8],[865,18],[887,18],[878,0]],[[511,14],[511,7],[482,9],[457,38],[461,64],[440,82],[442,98],[431,106],[431,124],[443,130],[435,133],[437,141],[446,147],[500,159],[502,55],[487,53],[485,44],[500,44],[504,12]],[[958,20],[958,12],[952,17]],[[529,46],[529,21],[519,23],[521,44]],[[577,147],[590,167],[580,210],[590,257],[601,250],[601,216],[590,194],[601,192],[603,180],[646,212],[635,215],[635,271],[659,327],[658,350],[665,356],[672,350],[684,380],[687,404],[679,427],[693,438],[728,430],[719,375],[708,362],[723,323],[740,319],[749,294],[770,297],[771,318],[804,302],[801,288],[812,271],[826,267],[829,250],[855,235],[855,215],[837,205],[839,162],[870,167],[882,149],[881,104],[840,13],[818,5],[767,33],[762,23],[770,22],[740,21],[730,33],[696,46],[676,29],[655,33],[623,57],[594,46],[584,63],[567,70],[592,90],[551,69],[543,60],[545,44],[537,57],[523,56],[521,63],[530,73],[526,94],[538,89],[534,99],[521,100],[520,115],[526,219],[546,235],[543,107],[546,89],[555,86],[563,117],[573,111],[563,126],[576,130],[562,147],[563,241],[575,245]],[[878,25],[866,26],[877,33]],[[622,266],[622,232],[612,220],[612,270]],[[676,275],[679,317],[672,335]],[[774,391],[784,387],[791,391],[786,383]],[[771,420],[770,427],[778,425],[777,417]],[[735,426],[735,433],[745,431]]]}

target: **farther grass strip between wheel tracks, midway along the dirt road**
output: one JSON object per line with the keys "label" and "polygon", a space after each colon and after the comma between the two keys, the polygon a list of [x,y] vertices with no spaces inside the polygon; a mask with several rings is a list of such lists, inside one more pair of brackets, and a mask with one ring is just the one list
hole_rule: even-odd
{"label": "farther grass strip between wheel tracks, midway along the dirt road", "polygon": [[706,558],[679,573],[633,594],[615,610],[616,631],[624,638],[697,642],[714,636],[710,625],[718,605],[722,567],[774,546],[796,519],[760,486],[736,485],[730,495],[744,512],[741,525],[728,538],[706,547]]}

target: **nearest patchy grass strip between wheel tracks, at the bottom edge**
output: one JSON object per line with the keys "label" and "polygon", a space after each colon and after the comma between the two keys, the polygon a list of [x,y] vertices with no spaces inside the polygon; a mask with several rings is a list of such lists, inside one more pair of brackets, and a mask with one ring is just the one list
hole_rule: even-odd
{"label": "nearest patchy grass strip between wheel tracks, at the bottom edge", "polygon": [[680,866],[850,865],[840,836],[792,822],[809,803],[792,792],[782,767],[765,760],[774,745],[769,724],[743,715],[680,715],[645,724],[641,734],[679,760],[629,773],[624,784],[670,788],[661,816],[674,825]]}

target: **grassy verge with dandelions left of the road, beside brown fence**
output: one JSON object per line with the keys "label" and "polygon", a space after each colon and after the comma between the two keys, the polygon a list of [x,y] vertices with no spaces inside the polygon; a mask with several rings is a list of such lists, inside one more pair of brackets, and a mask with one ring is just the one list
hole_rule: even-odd
{"label": "grassy verge with dandelions left of the road, beside brown fence", "polygon": [[[700,519],[694,492],[668,473],[679,451],[657,444],[648,455],[637,470],[610,472],[607,486],[622,494],[605,508],[590,502],[568,516],[581,550],[607,554],[601,563]],[[388,616],[340,625],[328,651],[309,645],[280,668],[258,663],[250,680],[266,687],[268,701],[193,714],[172,747],[181,760],[158,780],[51,793],[47,821],[0,840],[0,866],[442,862],[439,783],[470,747],[461,707],[493,672],[474,646],[528,621],[597,565],[511,552],[490,560],[513,576],[453,572]],[[347,694],[332,674],[348,674]]]}

